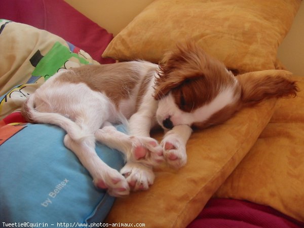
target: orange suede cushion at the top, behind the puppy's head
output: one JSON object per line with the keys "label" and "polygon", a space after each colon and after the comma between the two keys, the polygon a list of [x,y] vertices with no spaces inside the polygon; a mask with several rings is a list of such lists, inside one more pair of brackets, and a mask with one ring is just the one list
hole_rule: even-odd
{"label": "orange suede cushion at the top, behind the puppy's head", "polygon": [[275,69],[277,48],[300,0],[156,0],[109,44],[103,57],[158,62],[192,39],[240,72]]}

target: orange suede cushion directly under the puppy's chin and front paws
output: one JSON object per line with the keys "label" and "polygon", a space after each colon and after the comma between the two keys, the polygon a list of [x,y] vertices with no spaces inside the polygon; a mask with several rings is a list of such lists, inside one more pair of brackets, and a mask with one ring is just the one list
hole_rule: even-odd
{"label": "orange suede cushion directly under the puppy's chin and front paws", "polygon": [[[275,71],[254,73],[263,77]],[[106,222],[185,227],[248,153],[271,119],[275,103],[266,100],[222,125],[194,132],[186,146],[187,164],[180,170],[157,169],[151,188],[117,199]],[[161,140],[162,134],[154,136]]]}

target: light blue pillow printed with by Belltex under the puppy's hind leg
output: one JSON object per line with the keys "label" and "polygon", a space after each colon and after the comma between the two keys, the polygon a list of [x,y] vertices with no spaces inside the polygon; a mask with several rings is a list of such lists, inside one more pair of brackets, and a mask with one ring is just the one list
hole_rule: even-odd
{"label": "light blue pillow printed with by Belltex under the puppy's hind leg", "polygon": [[[117,127],[124,131],[122,125]],[[115,198],[97,189],[88,171],[63,144],[65,132],[53,125],[26,124],[0,146],[0,221],[101,222]],[[96,145],[98,156],[120,170],[117,150]]]}

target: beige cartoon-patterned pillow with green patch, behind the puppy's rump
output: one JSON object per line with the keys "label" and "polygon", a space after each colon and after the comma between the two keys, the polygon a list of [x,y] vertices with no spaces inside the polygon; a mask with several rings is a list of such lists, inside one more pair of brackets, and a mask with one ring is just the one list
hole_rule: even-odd
{"label": "beige cartoon-patterned pillow with green patch, behind the puppy's rump", "polygon": [[[29,25],[0,20],[0,127],[23,123],[24,100],[53,74],[84,64],[99,64],[88,53],[59,36]],[[16,126],[16,124],[15,124]],[[0,143],[20,127],[7,127]]]}

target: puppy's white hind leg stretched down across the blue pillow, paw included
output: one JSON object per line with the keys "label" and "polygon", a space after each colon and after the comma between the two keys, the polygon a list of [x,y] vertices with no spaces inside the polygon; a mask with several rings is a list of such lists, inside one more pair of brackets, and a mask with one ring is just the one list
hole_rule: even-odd
{"label": "puppy's white hind leg stretched down across the blue pillow, paw included", "polygon": [[115,197],[129,194],[129,185],[125,177],[117,170],[109,167],[97,156],[93,137],[74,141],[66,135],[64,144],[74,152],[83,166],[89,171],[95,186],[107,189],[108,194]]}

